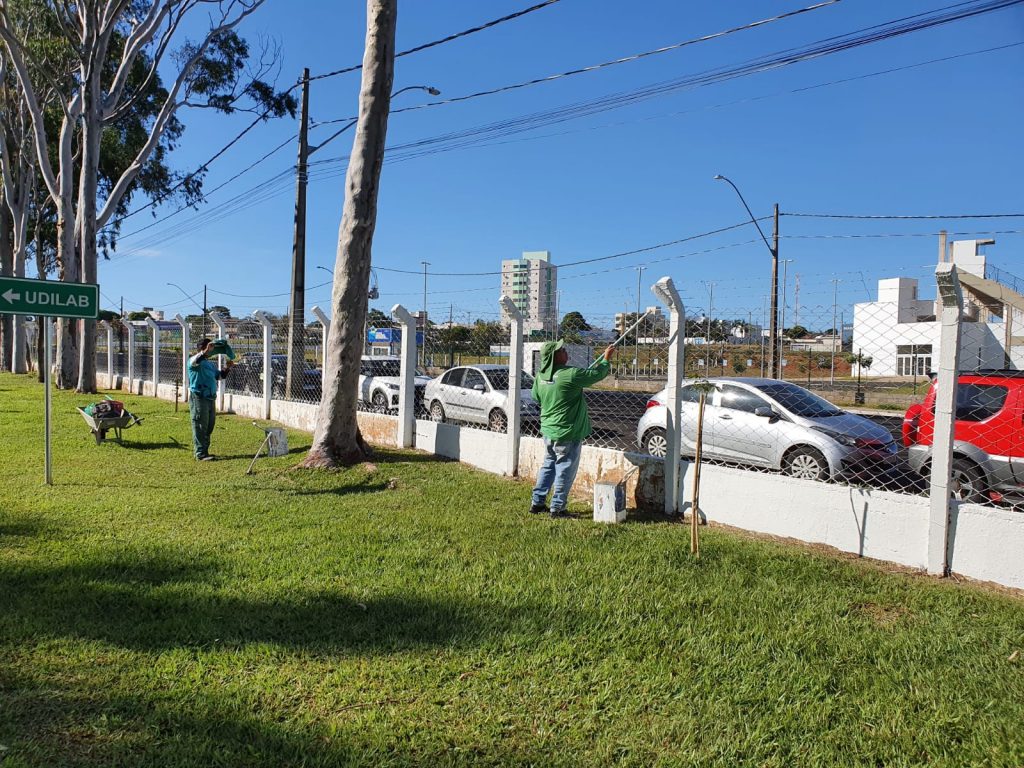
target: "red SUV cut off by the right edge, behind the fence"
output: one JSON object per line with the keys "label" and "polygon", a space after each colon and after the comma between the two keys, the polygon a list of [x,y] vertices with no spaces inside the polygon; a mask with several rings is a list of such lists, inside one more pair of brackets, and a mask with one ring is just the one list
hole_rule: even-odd
{"label": "red SUV cut off by the right edge, behind the fence", "polygon": [[[962,501],[1024,502],[1024,371],[959,375],[953,431],[953,495]],[[935,380],[903,417],[910,467],[931,472]]]}

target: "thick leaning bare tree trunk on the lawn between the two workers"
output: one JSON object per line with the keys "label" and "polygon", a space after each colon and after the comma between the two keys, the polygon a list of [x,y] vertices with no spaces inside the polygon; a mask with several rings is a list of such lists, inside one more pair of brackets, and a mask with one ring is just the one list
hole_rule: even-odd
{"label": "thick leaning bare tree trunk on the lawn between the two workers", "polygon": [[345,176],[345,207],[331,294],[333,316],[325,354],[324,393],[313,444],[303,462],[306,467],[350,465],[369,453],[359,433],[355,409],[370,260],[377,225],[377,194],[394,79],[397,15],[397,0],[367,0],[359,117]]}

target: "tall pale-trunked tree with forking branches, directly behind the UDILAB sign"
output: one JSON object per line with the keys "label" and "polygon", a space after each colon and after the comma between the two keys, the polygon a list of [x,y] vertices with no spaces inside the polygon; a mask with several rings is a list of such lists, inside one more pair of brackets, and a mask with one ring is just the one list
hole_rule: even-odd
{"label": "tall pale-trunked tree with forking branches, directly behind the UDILAB sign", "polygon": [[[246,98],[265,109],[264,115],[294,114],[295,100],[276,94],[261,79],[269,65],[256,76],[245,75],[249,56],[246,43],[233,32],[264,0],[79,0],[77,3],[46,3],[50,23],[70,45],[73,77],[57,82],[63,112],[56,167],[51,162],[45,115],[39,101],[39,85],[31,72],[31,46],[25,28],[0,0],[0,41],[7,48],[25,92],[36,133],[39,166],[57,209],[57,255],[61,279],[95,283],[97,233],[118,212],[139,174],[159,153],[175,115],[182,106],[232,112]],[[198,11],[198,12],[193,12]],[[208,24],[198,43],[173,48],[187,18],[208,12]],[[120,176],[101,188],[100,165],[104,131],[154,97],[158,71],[172,72],[170,86],[160,89],[156,109],[144,121],[144,133],[134,156]],[[139,74],[141,72],[141,80]],[[80,132],[79,132],[80,128]],[[73,155],[78,135],[79,153]],[[77,200],[74,181],[78,181]],[[76,251],[76,246],[78,250]],[[58,346],[58,386],[95,391],[94,322],[63,324]],[[81,348],[81,355],[78,354]]]}

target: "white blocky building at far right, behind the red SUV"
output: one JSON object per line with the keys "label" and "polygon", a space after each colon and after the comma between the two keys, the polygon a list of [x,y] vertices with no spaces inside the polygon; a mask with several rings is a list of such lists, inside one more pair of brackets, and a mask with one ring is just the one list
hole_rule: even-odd
{"label": "white blocky building at far right, behind the red SUV", "polygon": [[[948,258],[964,291],[961,370],[1024,368],[1024,296],[992,280],[982,247],[994,241],[955,241]],[[1012,276],[1012,275],[1010,275]],[[935,284],[929,293],[935,293]],[[879,281],[878,301],[855,304],[852,351],[871,357],[863,376],[926,376],[938,365],[940,307],[923,299],[914,278]],[[1009,323],[1007,321],[1010,321]],[[1008,353],[1009,350],[1009,353]],[[856,373],[856,368],[854,368]]]}

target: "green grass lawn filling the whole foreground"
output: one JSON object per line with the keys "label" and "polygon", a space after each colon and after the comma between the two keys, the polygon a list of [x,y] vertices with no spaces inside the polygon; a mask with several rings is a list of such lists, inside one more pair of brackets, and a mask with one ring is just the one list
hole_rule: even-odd
{"label": "green grass lawn filling the whole foreground", "polygon": [[[1024,600],[0,375],[0,766],[1024,764]],[[587,510],[575,511],[584,516]],[[1015,655],[1016,654],[1016,655]]]}

